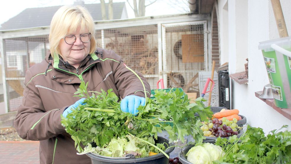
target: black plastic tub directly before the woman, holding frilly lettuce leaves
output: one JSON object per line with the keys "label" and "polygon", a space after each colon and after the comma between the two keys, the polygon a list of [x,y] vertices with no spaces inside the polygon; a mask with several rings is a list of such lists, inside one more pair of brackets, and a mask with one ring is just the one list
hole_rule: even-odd
{"label": "black plastic tub directly before the woman, holding frilly lettuce leaves", "polygon": [[[169,140],[163,137],[158,136],[156,140],[157,143],[169,143]],[[167,148],[168,146],[164,144]],[[173,143],[168,144],[169,147],[174,146]],[[92,147],[96,147],[96,145],[92,144]],[[165,151],[168,155],[174,150],[175,147],[171,147]],[[135,164],[168,164],[169,159],[163,154],[159,153],[157,155],[143,157],[143,158],[135,158],[134,156],[128,157],[105,157],[99,154],[94,153],[86,153],[88,157],[91,158],[92,164],[122,164],[122,163],[135,163]]]}

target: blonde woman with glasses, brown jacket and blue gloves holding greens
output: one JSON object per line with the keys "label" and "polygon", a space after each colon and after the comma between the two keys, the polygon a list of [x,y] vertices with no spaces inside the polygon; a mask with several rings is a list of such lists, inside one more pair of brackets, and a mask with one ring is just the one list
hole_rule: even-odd
{"label": "blonde woman with glasses, brown jacket and blue gloves holding greens", "polygon": [[[41,164],[90,164],[86,155],[77,155],[74,141],[61,125],[72,108],[83,104],[73,97],[81,81],[88,89],[113,89],[123,98],[121,109],[136,114],[144,105],[142,83],[112,50],[96,47],[94,22],[81,6],[63,6],[53,16],[49,44],[51,54],[28,69],[22,105],[14,126],[23,139],[40,141]],[[139,73],[138,73],[139,74]],[[148,96],[150,87],[139,74]]]}

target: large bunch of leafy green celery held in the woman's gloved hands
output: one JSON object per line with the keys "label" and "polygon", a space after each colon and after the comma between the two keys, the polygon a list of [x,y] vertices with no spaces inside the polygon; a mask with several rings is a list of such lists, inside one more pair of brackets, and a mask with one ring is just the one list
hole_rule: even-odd
{"label": "large bunch of leafy green celery held in the woman's gloved hands", "polygon": [[[107,92],[91,91],[91,96],[87,86],[88,83],[82,82],[75,92],[75,96],[86,98],[86,104],[72,110],[67,118],[61,116],[61,123],[75,141],[78,152],[83,151],[82,145],[93,141],[99,147],[106,147],[112,138],[128,134],[139,139],[145,136],[157,138],[157,133],[162,130],[168,132],[170,142],[177,139],[184,142],[187,135],[202,142],[201,121],[207,121],[213,114],[210,106],[205,107],[202,103],[203,98],[197,98],[196,103],[190,104],[184,92],[156,90],[155,98],[147,98],[147,104],[139,106],[139,113],[134,116],[121,111],[119,98],[112,89]],[[128,128],[129,124],[133,125],[132,129]]]}

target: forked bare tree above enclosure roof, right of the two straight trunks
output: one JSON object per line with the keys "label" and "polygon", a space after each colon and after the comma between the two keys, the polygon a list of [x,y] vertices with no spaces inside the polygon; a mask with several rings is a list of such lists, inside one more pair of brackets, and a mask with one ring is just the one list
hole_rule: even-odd
{"label": "forked bare tree above enclosure roof, right of the two straight trunks", "polygon": [[[133,1],[133,7],[129,3],[128,0],[126,0],[131,7],[131,9],[134,10],[135,17],[143,17],[145,15],[145,8],[153,3],[155,3],[157,0],[150,1],[147,5],[145,4],[145,0],[132,0]],[[138,7],[137,7],[138,5]]]}

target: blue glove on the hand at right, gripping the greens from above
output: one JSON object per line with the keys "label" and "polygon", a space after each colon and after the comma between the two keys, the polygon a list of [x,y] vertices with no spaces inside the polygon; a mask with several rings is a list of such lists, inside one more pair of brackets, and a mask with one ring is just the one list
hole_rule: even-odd
{"label": "blue glove on the hand at right, gripping the greens from above", "polygon": [[145,98],[136,95],[126,96],[120,102],[120,107],[123,112],[128,112],[134,115],[137,115],[137,112],[139,112],[139,110],[136,109],[139,105],[145,105]]}

